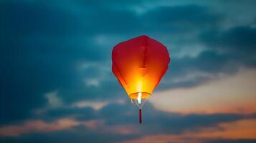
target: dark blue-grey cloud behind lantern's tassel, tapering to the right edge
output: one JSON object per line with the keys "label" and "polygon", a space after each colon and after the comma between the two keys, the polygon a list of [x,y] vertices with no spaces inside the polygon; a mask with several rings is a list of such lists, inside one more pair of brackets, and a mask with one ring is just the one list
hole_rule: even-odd
{"label": "dark blue-grey cloud behind lantern's tassel, tapering to the right edge", "polygon": [[[100,109],[100,118],[106,119],[108,125],[134,124],[138,122],[138,111],[131,104],[109,104]],[[113,117],[113,114],[115,116]],[[255,114],[188,114],[162,112],[152,104],[146,103],[143,107],[143,127],[138,127],[141,134],[172,133],[180,134],[186,129],[200,127],[214,127],[222,122],[232,122],[239,119],[254,119]]]}

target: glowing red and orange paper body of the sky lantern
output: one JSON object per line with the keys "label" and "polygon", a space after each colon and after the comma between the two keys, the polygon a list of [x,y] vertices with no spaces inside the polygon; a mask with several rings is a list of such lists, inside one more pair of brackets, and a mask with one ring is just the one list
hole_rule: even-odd
{"label": "glowing red and orange paper body of the sky lantern", "polygon": [[112,71],[132,99],[149,97],[166,73],[170,61],[166,46],[148,36],[123,41],[112,51]]}

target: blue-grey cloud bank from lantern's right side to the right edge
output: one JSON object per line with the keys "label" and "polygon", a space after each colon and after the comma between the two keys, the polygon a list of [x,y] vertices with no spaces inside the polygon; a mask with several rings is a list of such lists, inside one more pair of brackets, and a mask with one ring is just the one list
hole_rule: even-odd
{"label": "blue-grey cloud bank from lantern's right side to the right edge", "polygon": [[194,87],[217,79],[219,74],[235,74],[240,69],[254,68],[255,36],[256,30],[251,26],[202,32],[199,39],[207,49],[198,56],[172,58],[161,88]]}

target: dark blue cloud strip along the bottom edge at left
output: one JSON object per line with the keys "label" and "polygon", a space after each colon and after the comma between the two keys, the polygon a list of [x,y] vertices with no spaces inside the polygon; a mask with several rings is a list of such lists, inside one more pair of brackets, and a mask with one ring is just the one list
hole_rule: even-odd
{"label": "dark blue cloud strip along the bottom edge at left", "polygon": [[32,134],[32,135],[24,135],[24,137],[19,138],[6,138],[6,139],[0,139],[1,142],[5,143],[33,143],[35,141],[39,143],[52,143],[52,142],[88,142],[88,143],[94,143],[94,142],[121,142],[126,139],[134,139],[135,136],[131,135],[122,135],[122,134],[100,134],[97,132],[93,132],[90,130],[83,130],[75,132],[54,132],[54,133],[43,133],[43,134]]}

